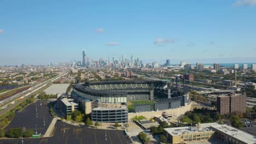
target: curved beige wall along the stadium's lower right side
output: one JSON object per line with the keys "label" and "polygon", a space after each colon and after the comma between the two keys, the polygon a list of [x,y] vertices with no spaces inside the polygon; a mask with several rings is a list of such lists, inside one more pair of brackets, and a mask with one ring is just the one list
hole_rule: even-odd
{"label": "curved beige wall along the stadium's lower right side", "polygon": [[175,115],[175,116],[181,116],[184,115],[185,112],[190,111],[191,109],[191,103],[185,106],[181,106],[178,107],[176,109],[168,109],[168,110],[160,110],[160,111],[147,111],[147,112],[129,112],[128,113],[128,118],[129,121],[131,120],[131,118],[135,117],[135,116],[144,116],[146,118],[152,118],[154,116],[160,116],[162,115],[162,112],[166,112],[169,113],[171,115]]}

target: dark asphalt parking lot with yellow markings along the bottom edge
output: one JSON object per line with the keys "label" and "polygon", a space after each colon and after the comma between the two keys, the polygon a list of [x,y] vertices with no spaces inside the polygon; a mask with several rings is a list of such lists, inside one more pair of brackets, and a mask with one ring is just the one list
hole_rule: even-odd
{"label": "dark asphalt parking lot with yellow markings along the bottom edge", "polygon": [[[65,133],[64,133],[65,129]],[[123,130],[102,130],[76,127],[57,121],[53,130],[53,137],[45,137],[40,139],[24,139],[24,143],[132,143]],[[107,136],[106,136],[107,134]],[[107,138],[107,140],[106,140]],[[22,143],[21,139],[0,140],[3,143]]]}

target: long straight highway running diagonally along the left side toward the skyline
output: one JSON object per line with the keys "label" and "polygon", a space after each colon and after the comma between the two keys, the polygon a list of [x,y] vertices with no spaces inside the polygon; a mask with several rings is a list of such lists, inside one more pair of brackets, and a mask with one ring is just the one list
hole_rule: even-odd
{"label": "long straight highway running diagonally along the left side toward the skyline", "polygon": [[[9,105],[10,102],[11,102],[10,100],[8,101],[8,103],[5,103],[5,105],[4,105],[3,107],[6,107],[6,108],[3,109],[2,111],[0,111],[0,116],[3,115],[3,113],[5,113],[5,112],[7,112],[7,111],[9,111],[9,110],[11,110],[11,109],[13,109],[15,106],[19,105],[20,103],[22,103],[22,102],[25,101],[26,99],[30,98],[30,95],[31,95],[32,93],[38,91],[38,90],[41,89],[41,88],[44,88],[45,86],[48,86],[50,83],[54,82],[54,81],[57,80],[57,79],[60,79],[60,77],[65,76],[65,75],[67,75],[67,74],[68,74],[68,73],[61,73],[60,75],[58,75],[58,76],[56,76],[56,77],[54,77],[54,78],[52,78],[52,79],[50,79],[50,80],[46,80],[46,81],[40,83],[39,85],[36,85],[36,86],[34,86],[34,87],[30,88],[30,89],[27,89],[27,90],[24,91],[24,92],[21,92],[21,93],[19,93],[19,94],[15,94],[15,95],[11,96],[10,98],[7,98],[7,99],[11,99],[11,100],[16,100],[16,99],[18,99],[19,97],[22,97],[22,96],[24,97],[24,98],[22,98],[21,100],[16,101],[14,104],[11,104],[11,105]],[[5,100],[6,100],[6,99],[5,99]],[[4,101],[4,100],[3,100],[3,101]],[[0,103],[3,103],[3,101],[1,101]],[[9,106],[8,106],[8,105],[9,105]]]}

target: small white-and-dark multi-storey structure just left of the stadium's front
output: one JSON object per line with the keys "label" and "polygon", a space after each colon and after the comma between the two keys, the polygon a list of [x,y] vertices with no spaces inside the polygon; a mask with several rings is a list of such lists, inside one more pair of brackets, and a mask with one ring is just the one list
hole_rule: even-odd
{"label": "small white-and-dark multi-storey structure just left of the stadium's front", "polygon": [[63,98],[60,100],[60,112],[64,117],[71,116],[72,112],[78,110],[78,104],[73,102],[74,99]]}

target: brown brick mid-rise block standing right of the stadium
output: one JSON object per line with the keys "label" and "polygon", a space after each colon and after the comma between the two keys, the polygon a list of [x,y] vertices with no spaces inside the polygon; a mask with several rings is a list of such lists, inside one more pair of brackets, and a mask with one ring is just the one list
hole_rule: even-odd
{"label": "brown brick mid-rise block standing right of the stadium", "polygon": [[246,93],[219,95],[217,97],[217,111],[220,115],[246,112]]}

